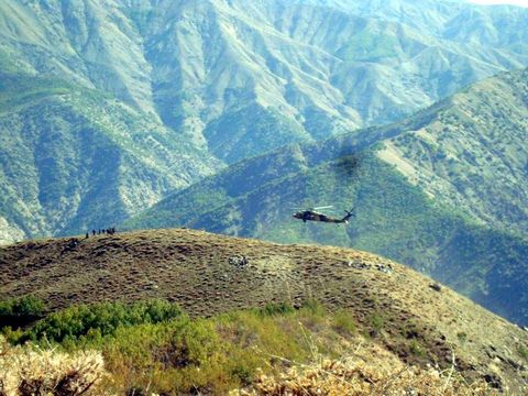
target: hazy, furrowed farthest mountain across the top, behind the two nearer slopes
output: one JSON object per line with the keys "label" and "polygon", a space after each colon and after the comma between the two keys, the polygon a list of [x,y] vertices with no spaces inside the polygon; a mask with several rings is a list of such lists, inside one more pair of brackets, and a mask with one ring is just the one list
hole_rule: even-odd
{"label": "hazy, furrowed farthest mountain across the top, behind the two nearer slopes", "polygon": [[9,0],[0,50],[28,72],[109,91],[229,163],[395,121],[528,65],[524,9],[369,4]]}

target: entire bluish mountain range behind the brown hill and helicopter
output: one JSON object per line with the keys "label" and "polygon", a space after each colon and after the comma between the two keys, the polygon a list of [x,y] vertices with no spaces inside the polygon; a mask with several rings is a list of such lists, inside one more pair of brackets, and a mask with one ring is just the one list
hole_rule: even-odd
{"label": "entire bluish mountain range behind the brown hill and helicopter", "polygon": [[[431,0],[2,1],[0,242],[355,246],[528,323],[527,25]],[[292,220],[319,205],[356,218]]]}

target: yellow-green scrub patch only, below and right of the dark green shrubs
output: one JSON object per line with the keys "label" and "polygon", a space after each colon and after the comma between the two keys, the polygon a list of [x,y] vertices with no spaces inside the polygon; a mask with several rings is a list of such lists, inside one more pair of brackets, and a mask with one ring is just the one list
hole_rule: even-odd
{"label": "yellow-green scrub patch only, below and right of the dark green shrubs", "polygon": [[118,393],[148,388],[226,395],[252,383],[258,367],[282,367],[284,361],[274,356],[308,362],[320,346],[307,326],[312,317],[309,308],[282,304],[208,319],[183,315],[169,322],[121,327],[100,345]]}

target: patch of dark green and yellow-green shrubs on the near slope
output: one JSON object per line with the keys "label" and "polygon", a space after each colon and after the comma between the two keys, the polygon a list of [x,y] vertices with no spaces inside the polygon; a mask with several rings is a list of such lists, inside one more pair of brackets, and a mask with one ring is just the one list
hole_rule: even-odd
{"label": "patch of dark green and yellow-green shrubs on the near slope", "polygon": [[[300,309],[271,304],[191,319],[164,301],[76,306],[50,315],[24,333],[59,350],[99,350],[114,394],[228,394],[285,364],[324,352],[340,358],[355,323],[345,310],[327,312],[310,300]],[[330,341],[331,340],[331,341]],[[330,342],[329,342],[330,341]]]}

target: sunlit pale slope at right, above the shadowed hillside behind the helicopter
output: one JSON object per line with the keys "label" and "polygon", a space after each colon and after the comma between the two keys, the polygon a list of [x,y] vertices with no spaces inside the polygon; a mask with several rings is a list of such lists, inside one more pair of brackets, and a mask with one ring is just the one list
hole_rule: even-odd
{"label": "sunlit pale slope at right, above the shadowed hillside behind the helicopter", "polygon": [[377,155],[433,199],[492,227],[528,232],[528,69],[473,85]]}

